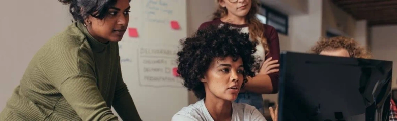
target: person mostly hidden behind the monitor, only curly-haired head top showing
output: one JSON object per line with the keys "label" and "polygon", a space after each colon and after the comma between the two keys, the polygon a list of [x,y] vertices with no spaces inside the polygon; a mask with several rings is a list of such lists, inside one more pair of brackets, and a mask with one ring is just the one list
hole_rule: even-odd
{"label": "person mostly hidden behind the monitor, only curly-haired head top showing", "polygon": [[322,38],[311,48],[312,53],[369,59],[372,57],[370,52],[363,46],[360,46],[353,38],[337,36],[331,38]]}

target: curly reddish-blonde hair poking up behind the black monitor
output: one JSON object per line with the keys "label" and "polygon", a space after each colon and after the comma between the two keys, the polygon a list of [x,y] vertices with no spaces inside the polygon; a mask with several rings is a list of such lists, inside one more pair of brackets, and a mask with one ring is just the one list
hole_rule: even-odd
{"label": "curly reddish-blonde hair poking up behind the black monitor", "polygon": [[337,36],[331,38],[322,37],[317,44],[311,48],[311,52],[320,54],[321,51],[330,51],[336,49],[346,49],[350,57],[354,58],[372,58],[371,53],[367,48],[360,46],[353,38]]}

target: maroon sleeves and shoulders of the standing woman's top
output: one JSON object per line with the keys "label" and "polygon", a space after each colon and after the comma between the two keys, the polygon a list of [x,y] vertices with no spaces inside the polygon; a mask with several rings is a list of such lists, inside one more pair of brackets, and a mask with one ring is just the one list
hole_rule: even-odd
{"label": "maroon sleeves and shoulders of the standing woman's top", "polygon": [[[208,21],[208,22],[201,24],[198,29],[201,30],[211,24],[219,25],[220,23],[229,24],[230,26],[236,27],[236,28],[248,27],[248,24],[236,25],[236,24],[231,24],[231,23],[225,23],[225,22],[221,21],[220,19],[215,19],[213,21]],[[269,54],[267,54],[265,56],[265,60],[270,57],[273,57],[272,60],[279,60],[280,59],[280,43],[278,40],[278,33],[277,33],[276,29],[274,29],[274,27],[272,27],[272,26],[263,24],[263,27],[265,28],[263,35],[266,37],[267,44],[269,47]],[[277,62],[277,64],[279,64],[279,63]],[[279,69],[279,68],[277,67],[276,69]],[[277,93],[278,92],[278,84],[279,84],[279,80],[280,80],[279,72],[270,73],[268,75],[271,79],[272,86],[273,86],[273,91],[271,93],[273,93],[273,94]]]}

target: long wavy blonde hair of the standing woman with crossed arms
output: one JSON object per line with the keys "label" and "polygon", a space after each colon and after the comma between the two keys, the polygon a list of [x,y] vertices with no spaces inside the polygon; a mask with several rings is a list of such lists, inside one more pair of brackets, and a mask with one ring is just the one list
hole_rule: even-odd
{"label": "long wavy blonde hair of the standing woman with crossed arms", "polygon": [[[216,11],[212,14],[212,19],[220,19],[228,15],[228,9],[226,7],[222,7],[219,5],[220,1],[228,1],[228,0],[215,0],[215,3],[218,5]],[[263,32],[265,28],[256,14],[258,13],[258,0],[251,0],[251,9],[248,14],[245,16],[245,22],[248,23],[249,36],[253,41],[261,41],[263,48],[265,49],[265,53],[269,53],[269,47],[267,44],[267,39],[263,36]],[[257,40],[255,37],[257,36],[260,40]]]}

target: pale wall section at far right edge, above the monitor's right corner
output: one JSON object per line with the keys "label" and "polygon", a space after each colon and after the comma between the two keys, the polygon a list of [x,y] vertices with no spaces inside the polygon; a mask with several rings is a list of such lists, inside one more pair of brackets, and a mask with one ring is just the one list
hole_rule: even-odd
{"label": "pale wall section at far right edge, above the monitor's right corner", "polygon": [[375,59],[393,61],[392,88],[397,89],[397,25],[375,26],[371,30],[371,50]]}

